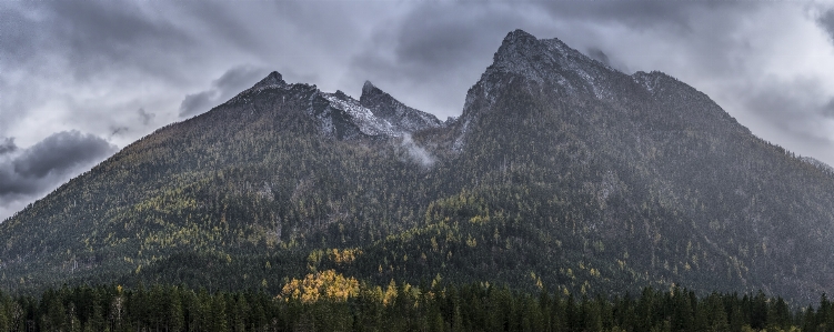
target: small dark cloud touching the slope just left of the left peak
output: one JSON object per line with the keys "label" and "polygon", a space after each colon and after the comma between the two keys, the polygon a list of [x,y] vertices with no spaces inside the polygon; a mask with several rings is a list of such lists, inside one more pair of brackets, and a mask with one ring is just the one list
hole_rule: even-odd
{"label": "small dark cloud touching the slope just left of the left peak", "polygon": [[225,102],[241,91],[251,88],[263,79],[269,71],[249,66],[235,67],[228,70],[211,83],[211,88],[193,94],[187,94],[180,103],[180,118],[201,114],[211,108]]}

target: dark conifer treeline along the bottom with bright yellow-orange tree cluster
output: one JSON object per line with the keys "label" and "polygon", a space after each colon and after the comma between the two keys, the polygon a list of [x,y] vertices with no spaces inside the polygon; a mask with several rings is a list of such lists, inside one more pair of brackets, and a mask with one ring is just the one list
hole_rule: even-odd
{"label": "dark conifer treeline along the bottom with bright yellow-orange tree cluster", "polygon": [[[322,276],[323,275],[323,276]],[[336,286],[339,291],[333,291]],[[309,296],[310,293],[319,293]],[[311,300],[312,299],[312,300]],[[756,294],[537,295],[505,286],[358,285],[319,273],[279,295],[185,286],[63,286],[41,296],[0,292],[0,331],[831,331],[834,305],[792,310]]]}

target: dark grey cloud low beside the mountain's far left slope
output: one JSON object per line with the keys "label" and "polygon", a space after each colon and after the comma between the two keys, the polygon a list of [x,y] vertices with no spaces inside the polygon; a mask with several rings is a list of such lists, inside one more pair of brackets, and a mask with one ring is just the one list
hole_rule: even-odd
{"label": "dark grey cloud low beside the mountain's far left slope", "polygon": [[[0,147],[14,147],[7,138]],[[7,149],[8,150],[8,149]],[[20,204],[30,202],[94,163],[112,155],[118,148],[105,140],[79,131],[62,131],[27,149],[0,153],[0,220]]]}

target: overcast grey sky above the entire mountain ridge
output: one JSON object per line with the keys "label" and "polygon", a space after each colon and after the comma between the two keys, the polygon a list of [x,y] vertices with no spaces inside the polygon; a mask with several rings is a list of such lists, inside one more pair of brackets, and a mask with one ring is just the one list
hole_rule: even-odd
{"label": "overcast grey sky above the entire mountain ridge", "polygon": [[834,164],[834,4],[811,1],[0,1],[0,219],[270,71],[441,119],[503,37],[660,70]]}

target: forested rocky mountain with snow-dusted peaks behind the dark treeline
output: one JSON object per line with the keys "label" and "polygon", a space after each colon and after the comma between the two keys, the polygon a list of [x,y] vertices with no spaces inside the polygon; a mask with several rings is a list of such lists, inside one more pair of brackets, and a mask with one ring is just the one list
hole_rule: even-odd
{"label": "forested rocky mountain with snow-dusted peaks behind the dark treeline", "polygon": [[661,72],[510,32],[441,122],[270,73],[0,223],[0,285],[264,288],[334,269],[573,294],[834,290],[834,174]]}

